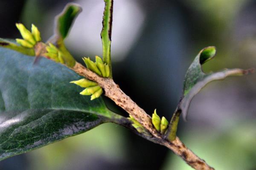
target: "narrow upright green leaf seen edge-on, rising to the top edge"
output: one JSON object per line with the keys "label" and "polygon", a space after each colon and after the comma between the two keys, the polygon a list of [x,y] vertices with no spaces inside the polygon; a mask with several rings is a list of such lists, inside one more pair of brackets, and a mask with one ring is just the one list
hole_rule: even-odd
{"label": "narrow upright green leaf seen edge-on, rising to the top edge", "polygon": [[112,78],[111,66],[111,31],[112,31],[112,18],[113,18],[113,0],[104,0],[105,10],[103,13],[102,21],[102,52],[103,62],[107,63],[110,67],[110,77]]}

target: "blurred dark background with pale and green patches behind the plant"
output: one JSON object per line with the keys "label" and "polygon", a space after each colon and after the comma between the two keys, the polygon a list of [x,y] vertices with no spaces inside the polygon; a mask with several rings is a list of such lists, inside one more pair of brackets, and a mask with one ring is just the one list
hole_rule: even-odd
{"label": "blurred dark background with pale and green patches behind the plant", "polygon": [[[52,35],[54,16],[75,2],[83,11],[66,40],[76,59],[102,54],[103,0],[1,0],[0,37],[20,37],[15,23]],[[209,45],[204,71],[256,67],[255,0],[115,0],[115,82],[147,113],[171,119],[186,69]],[[256,74],[212,82],[192,100],[178,136],[217,170],[256,170]],[[104,98],[108,107],[128,116]],[[0,162],[1,170],[189,170],[167,148],[115,124]]]}

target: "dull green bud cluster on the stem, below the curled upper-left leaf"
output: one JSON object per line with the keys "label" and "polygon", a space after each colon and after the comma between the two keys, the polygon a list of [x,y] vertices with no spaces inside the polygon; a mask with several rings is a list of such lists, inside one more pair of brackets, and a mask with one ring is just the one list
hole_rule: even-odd
{"label": "dull green bud cluster on the stem, below the curled upper-left leaf", "polygon": [[46,47],[46,51],[47,53],[45,53],[44,55],[54,60],[55,62],[60,62],[61,64],[64,64],[63,54],[55,45],[49,43],[49,45],[47,45]]}

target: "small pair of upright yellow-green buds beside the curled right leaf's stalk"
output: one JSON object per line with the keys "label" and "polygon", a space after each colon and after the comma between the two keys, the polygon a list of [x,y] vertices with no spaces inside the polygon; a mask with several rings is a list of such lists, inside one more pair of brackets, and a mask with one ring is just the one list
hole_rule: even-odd
{"label": "small pair of upright yellow-green buds beside the curled right leaf's stalk", "polygon": [[169,122],[164,116],[162,117],[162,119],[160,119],[160,117],[157,115],[156,109],[152,114],[152,123],[158,132],[160,132],[161,134],[166,133]]}

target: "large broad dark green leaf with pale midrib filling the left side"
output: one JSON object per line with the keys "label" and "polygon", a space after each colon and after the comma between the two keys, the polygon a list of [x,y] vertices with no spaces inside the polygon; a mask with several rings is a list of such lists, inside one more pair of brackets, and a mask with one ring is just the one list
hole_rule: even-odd
{"label": "large broad dark green leaf with pale midrib filling the left side", "polygon": [[0,160],[114,119],[129,124],[101,97],[90,101],[80,95],[82,88],[69,83],[82,78],[74,71],[43,57],[33,63],[32,57],[0,48]]}

